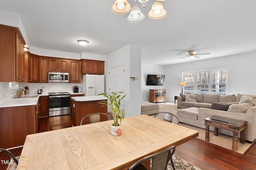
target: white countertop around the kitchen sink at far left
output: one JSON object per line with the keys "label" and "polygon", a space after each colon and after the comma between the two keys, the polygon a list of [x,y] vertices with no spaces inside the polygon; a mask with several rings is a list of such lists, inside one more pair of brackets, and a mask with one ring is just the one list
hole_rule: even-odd
{"label": "white countertop around the kitchen sink at far left", "polygon": [[30,106],[36,105],[40,95],[25,95],[25,96],[37,96],[36,98],[18,98],[8,99],[0,103],[0,107],[16,107],[16,106]]}

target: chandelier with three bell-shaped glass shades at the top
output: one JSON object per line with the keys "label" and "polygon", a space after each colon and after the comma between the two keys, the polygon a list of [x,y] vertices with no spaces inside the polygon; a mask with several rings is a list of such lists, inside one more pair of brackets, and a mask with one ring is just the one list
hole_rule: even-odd
{"label": "chandelier with three bell-shaped glass shades at the top", "polygon": [[[145,8],[147,1],[148,0],[139,0],[139,2],[142,3],[142,8]],[[166,10],[164,10],[164,6],[160,1],[166,0],[155,0],[150,12],[148,12],[149,18],[160,19],[166,15]],[[132,23],[140,22],[145,17],[138,5],[136,5],[136,0],[134,0],[134,5],[132,7],[127,0],[115,0],[114,5],[112,6],[112,11],[118,15],[124,15],[130,12],[127,20]]]}

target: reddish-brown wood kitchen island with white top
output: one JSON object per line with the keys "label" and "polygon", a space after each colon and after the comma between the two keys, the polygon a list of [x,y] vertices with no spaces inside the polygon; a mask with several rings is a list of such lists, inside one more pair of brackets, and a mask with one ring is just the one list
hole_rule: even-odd
{"label": "reddish-brown wood kitchen island with white top", "polygon": [[[82,118],[91,113],[107,113],[108,107],[99,104],[98,102],[107,100],[104,96],[80,96],[71,97],[72,103],[72,122],[73,126],[79,126]],[[106,116],[100,117],[100,120],[105,121]],[[85,119],[84,124],[89,123],[89,119]]]}

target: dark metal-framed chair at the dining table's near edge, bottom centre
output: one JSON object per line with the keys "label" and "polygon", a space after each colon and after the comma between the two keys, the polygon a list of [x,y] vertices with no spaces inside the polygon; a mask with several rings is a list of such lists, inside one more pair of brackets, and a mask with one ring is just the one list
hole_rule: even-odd
{"label": "dark metal-framed chair at the dining table's near edge, bottom centre", "polygon": [[[141,158],[137,162],[135,162],[129,170],[147,170],[147,168],[141,164],[141,162],[144,162],[145,160],[151,159],[152,158],[152,163],[151,163],[151,170],[166,170],[167,164],[169,160],[172,160],[172,155],[175,152],[176,147],[172,146],[168,149],[162,150],[160,152],[151,154],[149,156],[146,156],[144,158]],[[174,169],[174,164],[172,163],[172,168]]]}

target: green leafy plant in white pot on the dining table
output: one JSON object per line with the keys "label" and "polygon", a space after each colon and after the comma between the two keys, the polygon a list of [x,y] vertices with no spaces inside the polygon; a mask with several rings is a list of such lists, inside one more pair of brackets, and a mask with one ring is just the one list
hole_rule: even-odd
{"label": "green leafy plant in white pot on the dining table", "polygon": [[[104,92],[97,95],[102,95],[108,98],[107,101],[100,101],[98,103],[103,104],[103,106],[109,106],[110,113],[114,119],[114,123],[111,125],[111,134],[114,136],[119,136],[122,133],[121,120],[124,119],[124,111],[120,109],[120,102],[125,98],[126,94],[124,93],[125,95],[121,97],[121,93],[124,92]],[[120,117],[120,114],[122,114],[122,117]],[[118,117],[120,117],[120,123],[118,122]]]}

